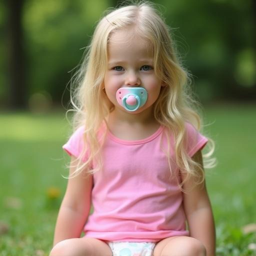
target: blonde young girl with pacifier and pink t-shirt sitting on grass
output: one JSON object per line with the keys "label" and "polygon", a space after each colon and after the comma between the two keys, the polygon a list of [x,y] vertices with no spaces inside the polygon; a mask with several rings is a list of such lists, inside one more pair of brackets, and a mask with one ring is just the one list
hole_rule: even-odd
{"label": "blonde young girl with pacifier and pink t-shirt sitting on grass", "polygon": [[88,49],[50,256],[213,256],[208,139],[167,26],[148,3],[120,7]]}

